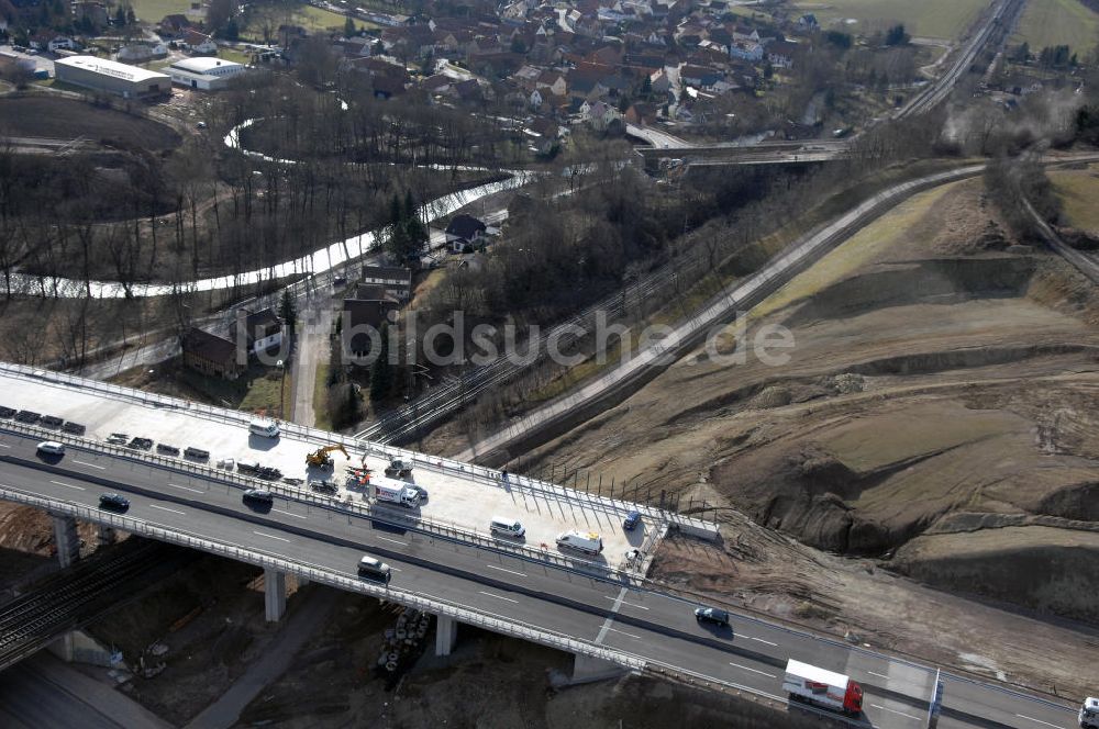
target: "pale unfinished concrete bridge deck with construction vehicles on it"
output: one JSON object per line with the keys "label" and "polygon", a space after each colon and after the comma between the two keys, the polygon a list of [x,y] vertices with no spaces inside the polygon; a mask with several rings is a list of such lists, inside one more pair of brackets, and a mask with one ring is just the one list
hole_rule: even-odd
{"label": "pale unfinished concrete bridge deck with construction vehicles on it", "polygon": [[[131,447],[138,451],[167,457],[223,466],[240,471],[244,460],[248,475],[255,475],[254,461],[259,468],[277,470],[267,475],[280,482],[308,487],[310,481],[333,482],[330,494],[340,501],[364,502],[367,489],[356,486],[354,472],[370,471],[371,478],[382,475],[389,459],[367,448],[349,449],[347,457],[338,451],[329,453],[332,468],[322,469],[307,466],[306,457],[325,442],[307,442],[291,435],[267,438],[248,433],[242,423],[215,419],[197,408],[157,407],[142,403],[143,393],[127,391],[113,393],[98,390],[99,383],[87,381],[88,386],[76,388],[60,382],[48,382],[38,378],[0,370],[0,422],[4,418],[21,419],[24,423],[67,430],[79,435],[82,426],[85,436],[95,440],[110,441]],[[22,412],[22,413],[21,413]],[[226,411],[234,416],[238,413]],[[36,423],[30,423],[32,416]],[[42,416],[49,418],[47,422]],[[196,458],[197,457],[197,458]],[[230,466],[227,460],[232,459]],[[411,509],[425,518],[489,535],[489,523],[493,517],[520,520],[526,529],[525,543],[558,552],[555,539],[558,534],[576,529],[582,534],[596,532],[603,541],[603,552],[599,558],[611,567],[622,567],[625,556],[644,542],[651,529],[657,525],[643,519],[632,531],[622,528],[623,514],[607,511],[586,502],[568,498],[552,492],[532,492],[515,487],[510,480],[499,478],[486,481],[481,478],[463,476],[462,473],[433,468],[431,457],[422,456],[417,467],[404,480],[414,483],[426,493],[426,501]],[[348,485],[351,487],[348,487]],[[391,506],[400,513],[403,507]],[[579,559],[591,559],[576,553]]]}

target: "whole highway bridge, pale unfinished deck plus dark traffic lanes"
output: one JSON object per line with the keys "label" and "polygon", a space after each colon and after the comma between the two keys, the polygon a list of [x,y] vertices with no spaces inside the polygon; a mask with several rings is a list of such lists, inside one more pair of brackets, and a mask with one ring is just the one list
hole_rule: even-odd
{"label": "whole highway bridge, pale unfinished deck plus dark traffic lanes", "polygon": [[[53,516],[63,565],[77,557],[74,525],[86,521],[262,568],[269,620],[285,612],[289,574],[431,613],[439,654],[454,648],[462,625],[473,625],[573,653],[578,680],[644,672],[779,711],[820,711],[789,703],[782,675],[792,659],[863,685],[858,716],[822,711],[854,726],[929,726],[931,709],[941,709],[940,727],[1034,729],[1067,727],[1074,718],[1055,697],[940,674],[911,658],[758,614],[730,609],[730,625],[701,624],[693,613],[698,596],[645,573],[667,531],[720,539],[711,523],[289,424],[279,424],[279,438],[267,438],[249,434],[245,413],[21,366],[0,365],[0,498]],[[123,440],[123,433],[124,445],[109,442]],[[44,440],[64,444],[64,453],[41,452]],[[309,489],[319,474],[309,472],[306,455],[324,444],[347,451],[336,470],[380,473],[401,460],[428,501],[409,509],[342,485],[335,493]],[[227,458],[270,464],[302,483],[219,468]],[[245,503],[247,489],[269,491],[269,508]],[[103,493],[123,495],[129,507],[101,507]],[[632,511],[641,513],[642,527],[626,531],[622,518]],[[489,521],[499,515],[528,525],[526,540],[493,537]],[[603,551],[566,553],[542,536],[558,529],[597,532]],[[391,567],[390,582],[358,575],[364,553]],[[19,628],[16,618],[2,630]],[[941,705],[933,700],[939,681]]]}

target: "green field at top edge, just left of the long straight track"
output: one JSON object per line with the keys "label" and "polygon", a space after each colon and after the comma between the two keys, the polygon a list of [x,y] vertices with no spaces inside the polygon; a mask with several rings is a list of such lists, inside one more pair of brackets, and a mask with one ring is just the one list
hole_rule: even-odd
{"label": "green field at top edge, just left of the long straight track", "polygon": [[[1032,0],[1043,1],[1043,0]],[[1075,0],[1066,0],[1075,1]],[[977,14],[988,3],[985,0],[831,0],[829,2],[798,2],[803,12],[817,15],[824,27],[833,21],[840,30],[857,33],[884,31],[895,23],[903,23],[911,35],[955,40],[961,37]],[[845,19],[857,23],[845,24]]]}

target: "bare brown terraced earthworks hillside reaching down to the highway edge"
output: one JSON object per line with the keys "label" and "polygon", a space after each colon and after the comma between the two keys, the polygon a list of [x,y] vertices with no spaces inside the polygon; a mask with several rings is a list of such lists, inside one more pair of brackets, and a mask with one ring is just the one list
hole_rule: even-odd
{"label": "bare brown terraced earthworks hillside reaching down to the highway edge", "polygon": [[1080,633],[1095,631],[1045,620],[1099,624],[1092,284],[1015,240],[970,180],[898,206],[746,321],[748,343],[763,325],[791,332],[793,348],[771,350],[785,365],[751,348],[742,365],[717,357],[736,346],[728,327],[524,468],[564,461],[641,495],[655,484],[718,504],[725,543],[671,541],[658,576],[874,646],[1086,691]]}

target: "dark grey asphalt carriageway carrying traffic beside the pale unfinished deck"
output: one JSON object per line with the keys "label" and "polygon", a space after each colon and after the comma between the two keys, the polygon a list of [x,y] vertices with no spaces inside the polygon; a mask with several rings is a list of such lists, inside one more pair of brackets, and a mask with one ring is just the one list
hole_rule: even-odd
{"label": "dark grey asphalt carriageway carrying traffic beside the pale unfinished deck", "polygon": [[[257,511],[242,502],[236,486],[125,458],[74,447],[56,462],[46,458],[35,452],[34,439],[0,435],[0,486],[91,507],[98,507],[100,494],[116,491],[130,500],[131,518],[343,576],[356,576],[363,553],[375,554],[393,568],[391,587],[779,700],[785,700],[786,661],[792,658],[862,683],[867,726],[925,722],[931,673],[842,642],[735,614],[732,629],[709,627],[695,619],[695,603],[652,585],[597,579],[281,497],[269,511]],[[947,680],[940,726],[1041,729],[1069,727],[1074,718],[1067,707],[995,685]]]}

